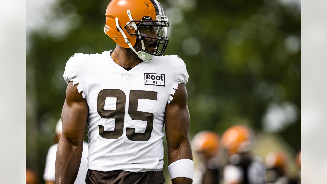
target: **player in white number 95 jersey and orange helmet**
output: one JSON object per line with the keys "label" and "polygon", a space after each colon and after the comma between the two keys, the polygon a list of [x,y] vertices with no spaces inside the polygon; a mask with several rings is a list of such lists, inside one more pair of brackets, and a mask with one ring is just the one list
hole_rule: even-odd
{"label": "player in white number 95 jersey and orange helmet", "polygon": [[104,32],[115,43],[101,54],[75,54],[68,83],[56,183],[73,183],[85,124],[89,155],[86,183],[164,183],[163,126],[174,184],[192,183],[193,160],[185,84],[186,65],[163,56],[168,18],[157,0],[112,0]]}

